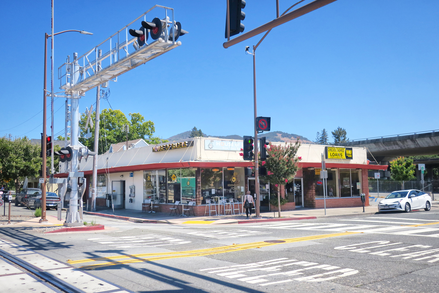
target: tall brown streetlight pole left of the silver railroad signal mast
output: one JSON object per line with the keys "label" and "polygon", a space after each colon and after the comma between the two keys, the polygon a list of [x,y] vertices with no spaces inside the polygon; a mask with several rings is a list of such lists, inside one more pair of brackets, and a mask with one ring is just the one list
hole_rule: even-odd
{"label": "tall brown streetlight pole left of the silver railroad signal mast", "polygon": [[[44,33],[44,78],[43,78],[43,137],[41,137],[41,154],[43,155],[43,163],[41,164],[41,177],[44,178],[41,184],[41,219],[40,223],[46,223],[46,120],[47,120],[47,96],[46,96],[46,82],[47,82],[47,33]],[[53,152],[52,152],[53,153]],[[52,160],[53,162],[53,160]],[[11,203],[9,203],[11,206]]]}

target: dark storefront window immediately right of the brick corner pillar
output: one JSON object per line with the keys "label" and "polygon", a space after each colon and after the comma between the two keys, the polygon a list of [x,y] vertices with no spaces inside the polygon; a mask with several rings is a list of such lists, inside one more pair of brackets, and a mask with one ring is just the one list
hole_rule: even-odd
{"label": "dark storefront window immediately right of the brick corner pillar", "polygon": [[201,169],[201,196],[202,204],[206,203],[206,199],[218,202],[223,196],[223,168]]}

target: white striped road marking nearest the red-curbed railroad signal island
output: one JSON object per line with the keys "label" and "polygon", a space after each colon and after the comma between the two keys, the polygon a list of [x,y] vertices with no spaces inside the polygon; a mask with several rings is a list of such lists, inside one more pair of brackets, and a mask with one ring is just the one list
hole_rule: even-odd
{"label": "white striped road marking nearest the red-curbed railroad signal island", "polygon": [[114,246],[115,248],[158,247],[186,244],[191,242],[155,234],[126,237],[90,238],[87,240],[101,244],[108,244],[108,246]]}

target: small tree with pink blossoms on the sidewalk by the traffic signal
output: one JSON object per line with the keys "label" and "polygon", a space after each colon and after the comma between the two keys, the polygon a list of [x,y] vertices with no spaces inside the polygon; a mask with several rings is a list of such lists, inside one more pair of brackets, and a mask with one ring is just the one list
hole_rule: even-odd
{"label": "small tree with pink blossoms on the sidewalk by the traffic signal", "polygon": [[[259,176],[259,178],[263,181],[270,181],[270,183],[275,184],[276,187],[291,182],[297,170],[299,170],[298,162],[302,159],[302,157],[296,156],[300,147],[299,139],[294,145],[291,143],[273,145],[271,142],[269,145],[270,148],[267,148],[267,145],[261,145],[261,148],[266,148],[267,150],[267,158],[265,161],[259,160],[259,168],[262,166],[266,167],[267,175]],[[279,192],[277,192],[279,217],[281,217],[281,203],[281,196]]]}

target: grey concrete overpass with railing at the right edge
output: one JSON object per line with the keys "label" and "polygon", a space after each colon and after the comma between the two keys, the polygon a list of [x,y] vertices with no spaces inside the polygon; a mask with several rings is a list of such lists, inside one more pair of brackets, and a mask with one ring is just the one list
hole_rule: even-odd
{"label": "grey concrete overpass with railing at the right edge", "polygon": [[[335,143],[345,147],[366,147],[367,159],[387,165],[399,156],[422,156],[439,154],[439,130],[384,137],[371,137],[348,142]],[[375,159],[374,159],[375,158]],[[382,163],[380,163],[382,162]]]}

